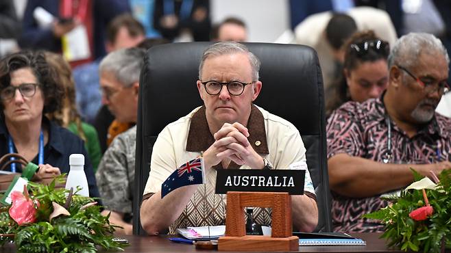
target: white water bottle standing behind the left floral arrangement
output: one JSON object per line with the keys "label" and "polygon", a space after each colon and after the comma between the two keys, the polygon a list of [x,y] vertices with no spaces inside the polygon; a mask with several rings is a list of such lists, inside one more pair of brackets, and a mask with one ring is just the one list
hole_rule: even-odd
{"label": "white water bottle standing behind the left floral arrangement", "polygon": [[89,197],[88,180],[86,179],[86,174],[84,174],[84,155],[70,155],[69,165],[71,170],[69,170],[69,175],[67,175],[66,189],[70,190],[73,187],[73,192],[75,193],[77,186],[80,186],[82,189],[77,192],[77,195]]}

